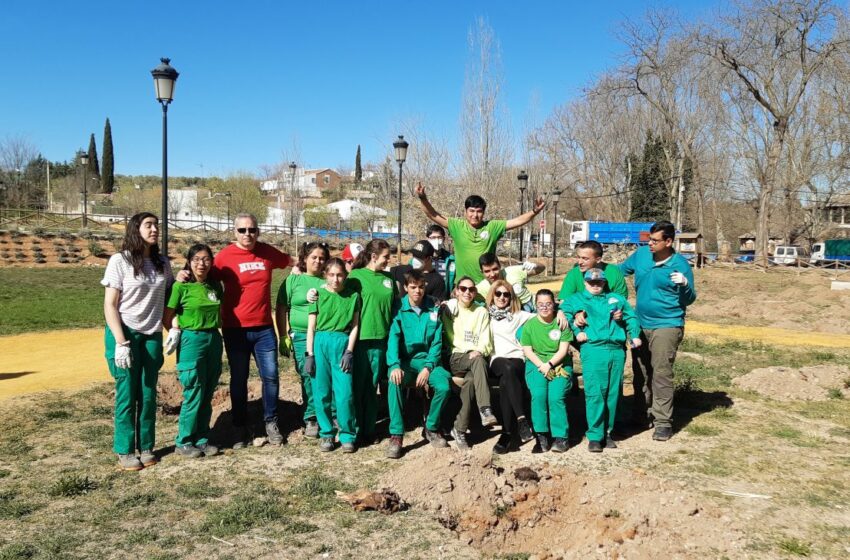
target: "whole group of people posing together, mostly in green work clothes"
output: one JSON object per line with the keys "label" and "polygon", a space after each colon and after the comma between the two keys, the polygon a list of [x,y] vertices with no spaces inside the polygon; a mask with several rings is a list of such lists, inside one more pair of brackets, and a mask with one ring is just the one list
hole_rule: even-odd
{"label": "whole group of people posing together, mostly in green work clothes", "polygon": [[[502,432],[494,452],[531,440],[538,451],[564,452],[576,347],[590,451],[616,447],[611,431],[627,346],[636,394],[644,397],[638,420],[655,422],[654,439],[669,439],[672,364],[685,307],[696,297],[690,266],[672,248],[671,224],[655,224],[649,245],[619,267],[602,262],[598,243],[580,245],[578,264],[556,298],[550,290],[532,294],[528,288],[528,276],[542,266],[502,268],[496,256],[504,233],[531,221],[543,209],[542,199],[521,216],[488,221],[479,196],[467,198],[463,218],[447,219],[424,187],[416,194],[434,224],[411,248],[409,262],[391,270],[390,247],[381,239],[346,246],[333,258],[326,245],[307,243],[295,263],[258,240],[256,218],[239,214],[233,244],[217,255],[206,245],[192,246],[175,277],[157,247],[157,217],[133,216],[102,280],[119,465],[140,470],[157,462],[157,376],[163,355],[174,351],[184,390],[175,452],[186,457],[218,452],[209,432],[223,352],[230,366],[234,448],[254,437],[247,391],[252,355],[262,380],[266,436],[271,444],[284,441],[277,419],[280,355],[294,361],[304,434],[318,438],[321,451],[339,447],[350,453],[373,444],[383,405],[389,416],[386,456],[400,457],[405,405],[417,394],[425,407],[422,436],[447,447],[450,435],[456,447],[468,449],[473,414],[484,427],[500,422],[491,402],[498,385]],[[445,248],[446,232],[453,254]],[[277,294],[276,332],[272,273],[288,267],[292,272]],[[629,274],[635,275],[636,313],[623,280]],[[454,394],[459,410],[446,418]]]}

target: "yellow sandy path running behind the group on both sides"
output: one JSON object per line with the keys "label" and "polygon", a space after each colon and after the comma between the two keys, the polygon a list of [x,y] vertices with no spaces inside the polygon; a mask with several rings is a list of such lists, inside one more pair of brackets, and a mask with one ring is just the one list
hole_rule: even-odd
{"label": "yellow sandy path running behind the group on both sides", "polygon": [[[557,293],[561,281],[535,284]],[[769,327],[714,325],[688,321],[688,336],[761,342],[772,346],[850,348],[850,335],[798,332]],[[174,355],[165,369],[175,367]],[[0,337],[0,400],[50,390],[79,389],[108,381],[103,329],[80,329]]]}

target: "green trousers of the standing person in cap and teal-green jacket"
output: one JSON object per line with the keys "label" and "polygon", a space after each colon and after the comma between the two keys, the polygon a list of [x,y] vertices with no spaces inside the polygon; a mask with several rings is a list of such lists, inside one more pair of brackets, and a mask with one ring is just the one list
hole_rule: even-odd
{"label": "green trousers of the standing person in cap and teal-green jacket", "polygon": [[626,350],[619,344],[581,345],[588,441],[605,441],[614,429]]}

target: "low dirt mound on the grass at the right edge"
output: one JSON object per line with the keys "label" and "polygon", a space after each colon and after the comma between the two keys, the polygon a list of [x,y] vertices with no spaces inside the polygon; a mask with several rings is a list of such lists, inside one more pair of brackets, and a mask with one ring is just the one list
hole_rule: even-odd
{"label": "low dirt mound on the grass at the right edge", "polygon": [[804,368],[772,366],[754,369],[732,380],[732,384],[755,391],[778,401],[823,401],[837,396],[835,391],[850,396],[850,368],[818,365]]}

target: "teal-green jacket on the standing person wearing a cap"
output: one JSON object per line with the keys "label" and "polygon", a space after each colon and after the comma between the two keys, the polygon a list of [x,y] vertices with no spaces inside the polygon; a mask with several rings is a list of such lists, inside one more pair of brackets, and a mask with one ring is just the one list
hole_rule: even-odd
{"label": "teal-green jacket on the standing person wearing a cap", "polygon": [[[611,318],[611,313],[617,309],[623,311],[623,318],[619,321]],[[626,343],[627,334],[629,340],[640,336],[640,324],[635,310],[620,294],[603,292],[594,296],[584,290],[561,302],[561,311],[567,316],[570,325],[573,325],[576,313],[587,313],[587,326],[584,329],[573,326],[576,334],[584,332],[587,335],[587,342],[584,344],[623,345]]]}

